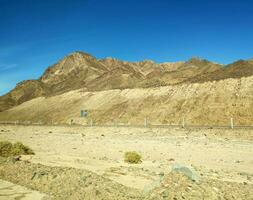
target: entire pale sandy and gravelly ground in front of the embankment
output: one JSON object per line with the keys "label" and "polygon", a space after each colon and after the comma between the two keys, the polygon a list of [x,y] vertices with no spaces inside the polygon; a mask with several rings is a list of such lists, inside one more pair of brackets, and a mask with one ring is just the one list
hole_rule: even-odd
{"label": "entire pale sandy and gravelly ground in front of the embankment", "polygon": [[[0,131],[0,140],[35,152],[1,161],[0,199],[253,199],[252,129],[1,125]],[[124,162],[127,151],[142,162]],[[174,172],[175,165],[193,169],[197,181]],[[26,192],[7,191],[6,181]]]}

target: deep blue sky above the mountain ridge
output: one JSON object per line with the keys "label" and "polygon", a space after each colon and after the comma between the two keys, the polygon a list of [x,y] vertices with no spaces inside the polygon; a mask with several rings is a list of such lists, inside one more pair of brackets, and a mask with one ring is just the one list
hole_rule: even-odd
{"label": "deep blue sky above the mountain ridge", "polygon": [[253,57],[252,0],[0,0],[0,95],[58,59]]}

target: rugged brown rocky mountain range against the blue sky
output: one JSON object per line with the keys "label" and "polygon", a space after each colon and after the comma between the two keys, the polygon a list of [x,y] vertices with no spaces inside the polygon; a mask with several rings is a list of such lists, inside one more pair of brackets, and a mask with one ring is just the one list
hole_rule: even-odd
{"label": "rugged brown rocky mountain range against the blue sky", "polygon": [[49,97],[76,89],[85,92],[149,88],[252,74],[252,60],[241,60],[228,66],[200,58],[175,63],[125,62],[114,58],[99,60],[87,53],[74,52],[50,66],[39,79],[23,81],[1,96],[0,112],[36,97]]}

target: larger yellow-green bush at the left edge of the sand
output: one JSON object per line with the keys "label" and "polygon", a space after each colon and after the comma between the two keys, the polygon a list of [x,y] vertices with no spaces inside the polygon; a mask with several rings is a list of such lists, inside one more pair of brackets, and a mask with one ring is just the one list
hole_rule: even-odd
{"label": "larger yellow-green bush at the left edge of the sand", "polygon": [[25,146],[21,142],[12,144],[8,141],[0,141],[0,156],[9,157],[17,155],[33,155],[34,152],[28,146]]}

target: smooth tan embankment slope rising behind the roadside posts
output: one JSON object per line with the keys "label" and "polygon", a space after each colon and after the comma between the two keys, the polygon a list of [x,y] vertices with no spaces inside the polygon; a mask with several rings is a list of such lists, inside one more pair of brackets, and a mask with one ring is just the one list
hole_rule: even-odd
{"label": "smooth tan embankment slope rising behind the roadside posts", "polygon": [[[88,118],[80,118],[80,110]],[[253,76],[205,83],[178,84],[84,92],[73,90],[52,97],[39,97],[0,112],[0,121],[42,123],[131,123],[252,125]]]}

